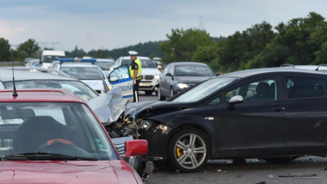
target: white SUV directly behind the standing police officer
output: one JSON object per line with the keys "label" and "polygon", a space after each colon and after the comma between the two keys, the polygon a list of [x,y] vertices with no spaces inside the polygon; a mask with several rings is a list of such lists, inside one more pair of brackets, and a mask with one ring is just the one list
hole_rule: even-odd
{"label": "white SUV directly behind the standing police officer", "polygon": [[[153,91],[157,94],[161,72],[150,58],[142,56],[137,56],[137,58],[141,60],[142,63],[142,79],[141,82],[139,82],[138,90],[145,91],[146,95],[151,95]],[[112,66],[111,70],[122,65],[130,66],[131,62],[130,56],[120,57],[115,61],[115,64]]]}

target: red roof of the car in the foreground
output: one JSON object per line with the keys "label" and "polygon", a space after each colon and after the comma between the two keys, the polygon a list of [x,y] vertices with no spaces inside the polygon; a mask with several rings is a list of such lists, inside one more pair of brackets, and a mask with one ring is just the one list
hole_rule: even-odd
{"label": "red roof of the car in the foreground", "polygon": [[85,102],[66,89],[18,89],[18,96],[12,96],[12,89],[0,90],[0,102]]}

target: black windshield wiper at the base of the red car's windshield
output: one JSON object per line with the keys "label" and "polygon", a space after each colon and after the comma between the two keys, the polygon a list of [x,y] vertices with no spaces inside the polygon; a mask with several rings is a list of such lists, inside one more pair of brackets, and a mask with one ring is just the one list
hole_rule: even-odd
{"label": "black windshield wiper at the base of the red car's windshield", "polygon": [[2,157],[3,159],[9,160],[34,160],[34,159],[50,159],[50,160],[98,160],[95,157],[85,157],[85,156],[69,156],[59,153],[47,153],[47,152],[35,152],[35,153],[17,153],[6,155]]}

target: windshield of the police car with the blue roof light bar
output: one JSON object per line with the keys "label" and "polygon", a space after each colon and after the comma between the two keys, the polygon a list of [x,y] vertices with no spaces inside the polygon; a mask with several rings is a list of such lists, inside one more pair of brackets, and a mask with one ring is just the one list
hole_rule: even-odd
{"label": "windshield of the police car with the blue roof light bar", "polygon": [[98,67],[62,66],[60,71],[80,80],[102,80],[104,75]]}

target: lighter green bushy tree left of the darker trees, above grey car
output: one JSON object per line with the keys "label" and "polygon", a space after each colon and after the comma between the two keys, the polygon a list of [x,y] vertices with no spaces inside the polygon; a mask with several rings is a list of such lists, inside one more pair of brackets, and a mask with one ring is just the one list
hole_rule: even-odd
{"label": "lighter green bushy tree left of the darker trees, above grey car", "polygon": [[168,41],[161,42],[158,50],[164,53],[162,62],[192,61],[194,52],[199,47],[211,45],[213,40],[206,31],[197,29],[172,30],[171,35],[167,34]]}

